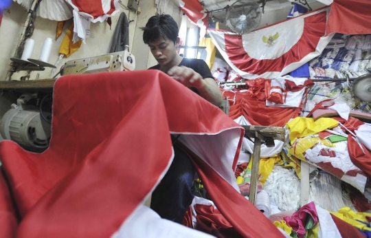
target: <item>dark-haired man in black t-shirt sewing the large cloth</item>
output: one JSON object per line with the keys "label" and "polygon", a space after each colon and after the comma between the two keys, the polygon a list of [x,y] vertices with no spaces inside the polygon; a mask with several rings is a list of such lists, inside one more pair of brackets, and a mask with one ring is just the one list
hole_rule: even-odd
{"label": "dark-haired man in black t-shirt sewing the large cloth", "polygon": [[[207,64],[195,58],[177,54],[178,26],[170,15],[151,17],[142,28],[143,41],[150,47],[159,69],[217,107],[223,102]],[[195,96],[196,96],[195,94]],[[175,156],[170,168],[153,192],[150,207],[162,218],[182,223],[184,214],[194,197],[191,188],[195,170],[188,156],[174,147]]]}

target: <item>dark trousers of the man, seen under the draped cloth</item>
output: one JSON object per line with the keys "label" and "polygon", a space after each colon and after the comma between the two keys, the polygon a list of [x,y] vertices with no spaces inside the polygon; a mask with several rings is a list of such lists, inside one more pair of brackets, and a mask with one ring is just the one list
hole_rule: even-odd
{"label": "dark trousers of the man, seen under the draped cloth", "polygon": [[191,191],[196,173],[190,158],[174,147],[174,160],[159,185],[153,191],[150,208],[161,218],[183,224],[183,217],[192,204]]}

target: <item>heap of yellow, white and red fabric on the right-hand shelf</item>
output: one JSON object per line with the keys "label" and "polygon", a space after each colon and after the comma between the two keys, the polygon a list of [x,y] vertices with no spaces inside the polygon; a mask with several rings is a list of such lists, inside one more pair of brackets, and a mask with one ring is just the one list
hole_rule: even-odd
{"label": "heap of yellow, white and red fabric on the right-hand shelf", "polygon": [[[290,129],[291,143],[286,145],[285,152],[289,157],[310,162],[335,175],[363,193],[367,172],[362,171],[359,169],[360,166],[355,164],[355,160],[350,155],[348,136],[338,125],[339,121],[333,118],[291,120],[286,125]],[[357,156],[362,157],[359,154]]]}

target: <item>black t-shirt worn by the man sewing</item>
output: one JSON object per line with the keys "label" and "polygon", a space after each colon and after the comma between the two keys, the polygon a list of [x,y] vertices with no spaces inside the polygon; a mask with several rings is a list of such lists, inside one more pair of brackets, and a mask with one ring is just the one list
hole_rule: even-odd
{"label": "black t-shirt worn by the man sewing", "polygon": [[[198,59],[198,58],[183,58],[181,63],[179,63],[178,66],[186,66],[194,70],[194,72],[197,72],[201,75],[202,78],[214,78],[212,76],[212,73],[210,72],[209,67],[205,63],[205,61]],[[155,65],[153,67],[150,67],[149,69],[160,69],[160,65]],[[194,91],[196,94],[200,95],[200,92],[195,87],[190,87],[192,91]]]}

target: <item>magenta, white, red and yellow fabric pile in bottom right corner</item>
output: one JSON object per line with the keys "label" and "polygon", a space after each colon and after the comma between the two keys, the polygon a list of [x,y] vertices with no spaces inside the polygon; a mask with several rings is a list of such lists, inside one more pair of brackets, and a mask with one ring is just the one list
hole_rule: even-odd
{"label": "magenta, white, red and yellow fabric pile in bottom right corner", "polygon": [[370,221],[370,213],[356,213],[346,206],[333,213],[310,202],[273,224],[297,238],[361,238],[370,237]]}

